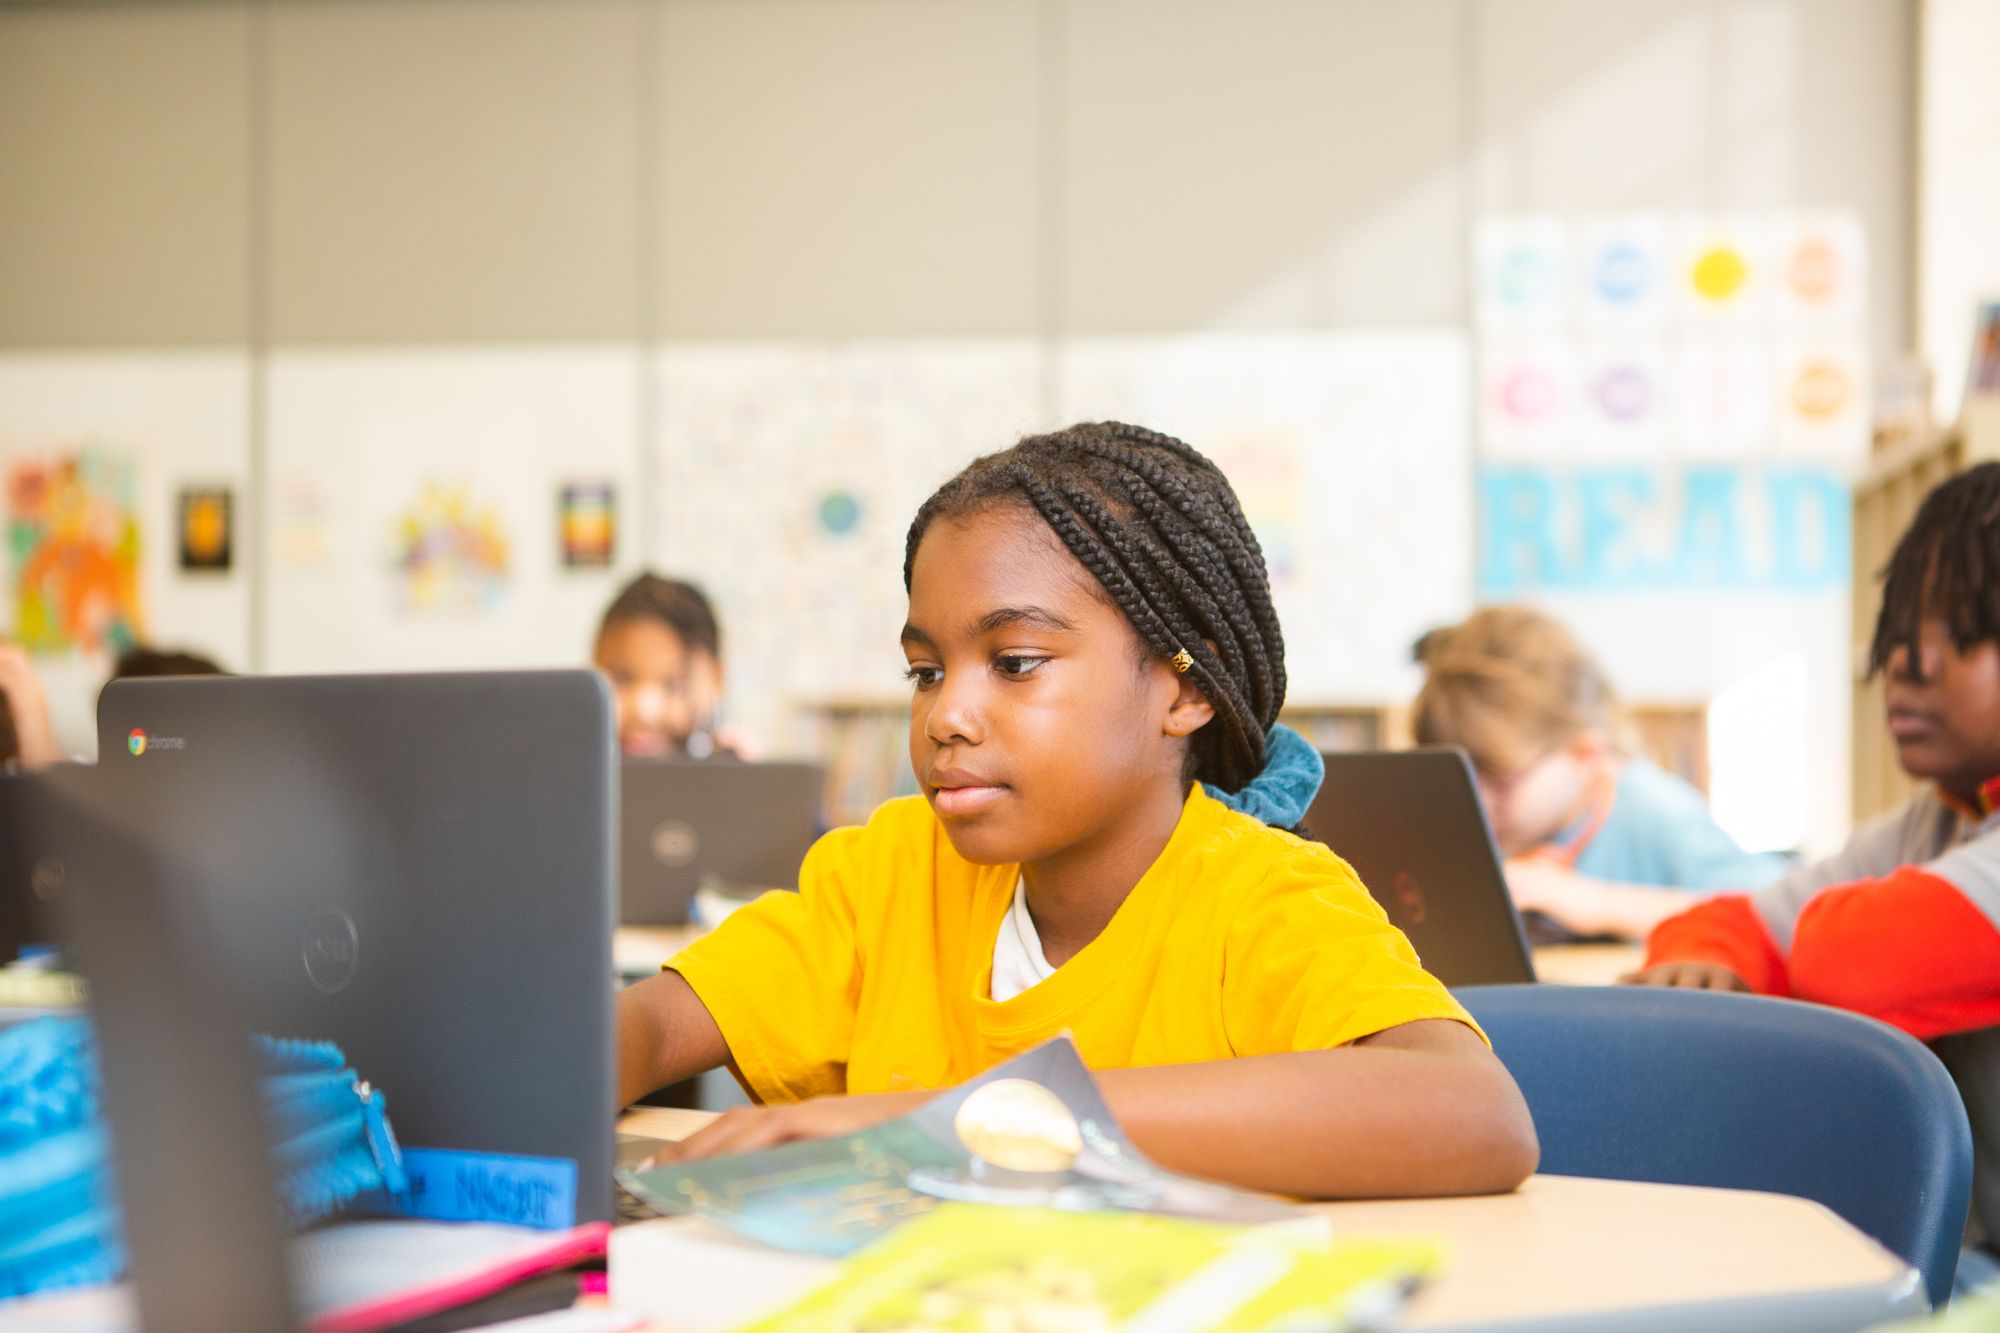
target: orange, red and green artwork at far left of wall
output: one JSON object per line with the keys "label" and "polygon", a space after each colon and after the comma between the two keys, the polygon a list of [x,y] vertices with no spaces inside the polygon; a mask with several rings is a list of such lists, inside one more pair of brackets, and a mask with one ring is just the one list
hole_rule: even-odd
{"label": "orange, red and green artwork at far left of wall", "polygon": [[100,446],[6,472],[14,636],[44,654],[116,654],[144,640],[138,466]]}

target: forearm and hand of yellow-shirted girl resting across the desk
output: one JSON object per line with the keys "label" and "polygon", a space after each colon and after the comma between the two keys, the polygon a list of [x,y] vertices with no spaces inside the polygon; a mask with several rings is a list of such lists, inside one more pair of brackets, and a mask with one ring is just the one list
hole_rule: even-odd
{"label": "forearm and hand of yellow-shirted girl resting across the desk", "polygon": [[[1310,1197],[1498,1193],[1528,1179],[1540,1157],[1514,1079],[1472,1029],[1448,1019],[1406,1023],[1334,1051],[1108,1069],[1096,1079],[1148,1157],[1248,1189]],[[738,1107],[690,1135],[680,1157],[854,1133],[932,1095]]]}

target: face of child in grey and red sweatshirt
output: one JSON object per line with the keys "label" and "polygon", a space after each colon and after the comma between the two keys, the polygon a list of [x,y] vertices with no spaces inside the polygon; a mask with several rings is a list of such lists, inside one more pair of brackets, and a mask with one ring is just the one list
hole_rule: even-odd
{"label": "face of child in grey and red sweatshirt", "polygon": [[1944,620],[1926,618],[1916,656],[1912,664],[1896,648],[1882,673],[1896,759],[1910,777],[1970,801],[2000,777],[2000,644],[1960,652]]}

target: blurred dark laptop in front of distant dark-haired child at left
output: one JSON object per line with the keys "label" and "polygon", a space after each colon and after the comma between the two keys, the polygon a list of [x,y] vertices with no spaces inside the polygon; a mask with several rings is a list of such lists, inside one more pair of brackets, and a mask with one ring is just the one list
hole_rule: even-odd
{"label": "blurred dark laptop in front of distant dark-haired child at left", "polygon": [[620,925],[676,925],[694,891],[796,889],[820,835],[826,771],[730,759],[628,759],[620,771]]}

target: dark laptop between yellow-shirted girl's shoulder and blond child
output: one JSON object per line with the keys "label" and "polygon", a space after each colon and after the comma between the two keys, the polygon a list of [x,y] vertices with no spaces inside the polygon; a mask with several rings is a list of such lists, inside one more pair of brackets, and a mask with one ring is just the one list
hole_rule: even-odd
{"label": "dark laptop between yellow-shirted girl's shoulder and blond child", "polygon": [[1458,749],[1324,755],[1306,833],[1368,885],[1448,987],[1534,981],[1500,853]]}

